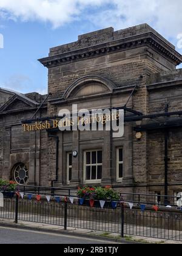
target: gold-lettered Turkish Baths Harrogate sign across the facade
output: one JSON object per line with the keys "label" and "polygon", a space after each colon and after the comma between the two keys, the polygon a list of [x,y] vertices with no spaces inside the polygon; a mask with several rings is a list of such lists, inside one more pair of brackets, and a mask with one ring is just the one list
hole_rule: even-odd
{"label": "gold-lettered Turkish Baths Harrogate sign across the facade", "polygon": [[[84,109],[80,112],[72,112],[69,110],[61,110],[60,118],[51,121],[39,122],[33,124],[22,124],[24,132],[36,130],[59,129],[64,130],[113,130],[116,137],[123,137],[124,134],[124,110],[106,109],[106,110],[89,110]],[[74,114],[76,113],[76,114]]]}

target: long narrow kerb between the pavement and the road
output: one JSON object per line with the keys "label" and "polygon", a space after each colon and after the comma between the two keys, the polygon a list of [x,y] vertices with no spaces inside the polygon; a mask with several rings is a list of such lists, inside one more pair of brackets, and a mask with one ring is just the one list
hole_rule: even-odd
{"label": "long narrow kerb between the pavement and the road", "polygon": [[40,227],[28,227],[28,226],[23,226],[19,224],[7,224],[7,223],[1,223],[0,222],[0,227],[9,227],[13,229],[22,229],[22,230],[32,230],[32,231],[38,231],[38,232],[45,232],[45,233],[55,233],[55,234],[62,234],[62,235],[76,235],[80,238],[93,238],[94,240],[97,239],[99,241],[109,241],[109,242],[114,242],[114,243],[124,243],[124,244],[144,244],[136,241],[126,241],[124,238],[118,239],[118,238],[107,238],[104,236],[99,236],[99,235],[89,235],[89,234],[81,234],[78,232],[69,232],[67,230],[50,230],[50,229],[41,229]]}

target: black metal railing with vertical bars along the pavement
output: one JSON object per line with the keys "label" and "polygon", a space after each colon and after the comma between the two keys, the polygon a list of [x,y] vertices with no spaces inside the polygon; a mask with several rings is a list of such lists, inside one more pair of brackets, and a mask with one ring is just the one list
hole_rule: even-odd
{"label": "black metal railing with vertical bars along the pavement", "polygon": [[[72,204],[69,197],[74,197],[75,192],[72,194],[72,189],[69,189],[64,193],[64,190],[59,189],[59,193],[54,194],[54,196],[63,196],[60,202],[57,202],[55,197],[51,197],[50,202],[47,201],[45,195],[52,196],[52,191],[47,190],[46,187],[37,191],[42,196],[40,201],[36,199],[36,196],[29,200],[28,194],[35,192],[30,187],[29,190],[22,190],[25,193],[24,199],[17,194],[12,198],[5,194],[4,207],[0,207],[0,218],[14,219],[16,223],[27,221],[62,226],[65,230],[67,227],[73,227],[104,233],[118,233],[122,237],[136,235],[182,241],[182,212],[178,207],[166,208],[165,205],[160,205],[156,212],[152,208],[153,201],[150,204],[148,201],[141,200],[146,195],[140,195],[140,201],[138,201],[134,198],[138,197],[138,194],[126,193],[126,197],[129,196],[129,198],[124,199],[125,195],[122,193],[123,200],[121,201],[124,204],[118,202],[117,208],[113,209],[107,202],[106,207],[102,209],[99,201],[95,202],[94,207],[90,207],[87,200],[84,201],[84,205],[79,205],[78,199],[75,199]],[[127,204],[127,202],[132,202],[132,200],[127,200],[132,199],[130,196],[134,198],[132,210]],[[152,197],[153,195],[150,195],[150,198]],[[146,205],[145,210],[141,210],[141,204]]]}

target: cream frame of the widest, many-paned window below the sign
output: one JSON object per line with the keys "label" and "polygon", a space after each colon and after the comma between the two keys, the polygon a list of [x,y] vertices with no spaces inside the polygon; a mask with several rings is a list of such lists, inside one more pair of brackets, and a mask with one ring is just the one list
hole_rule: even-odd
{"label": "cream frame of the widest, many-paned window below the sign", "polygon": [[[101,183],[102,179],[99,179],[99,180],[86,180],[86,167],[87,166],[103,166],[103,163],[97,163],[97,152],[98,151],[102,151],[102,149],[90,149],[90,150],[87,150],[87,151],[84,151],[84,183],[86,184],[90,184],[90,183]],[[91,163],[89,165],[86,165],[86,154],[87,152],[96,152],[96,163]],[[91,160],[91,159],[90,159]],[[103,160],[103,159],[102,159]],[[102,161],[103,162],[103,161]],[[97,169],[97,168],[96,168]],[[92,174],[92,172],[90,173]],[[103,174],[103,169],[102,169],[102,174]],[[96,171],[96,176],[97,176],[97,171]]]}

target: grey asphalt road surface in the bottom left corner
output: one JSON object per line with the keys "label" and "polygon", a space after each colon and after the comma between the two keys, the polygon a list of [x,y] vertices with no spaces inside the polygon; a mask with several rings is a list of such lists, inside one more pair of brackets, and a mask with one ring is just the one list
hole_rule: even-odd
{"label": "grey asphalt road surface in the bottom left corner", "polygon": [[0,244],[109,244],[109,242],[76,235],[0,227]]}

